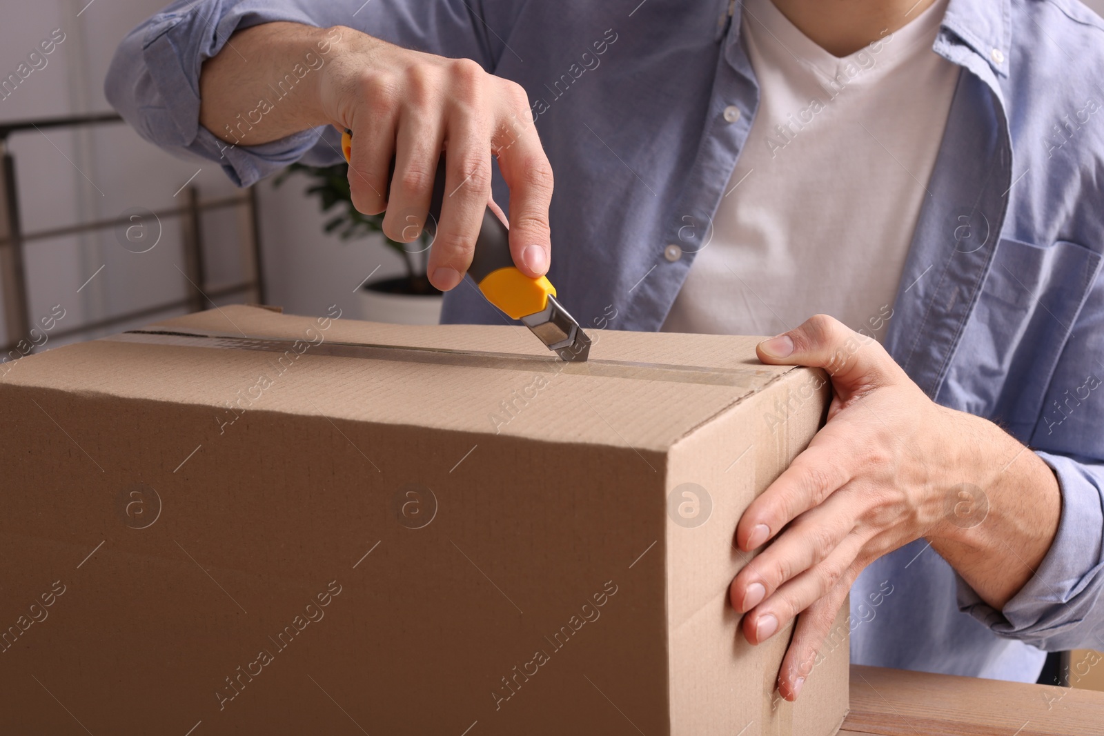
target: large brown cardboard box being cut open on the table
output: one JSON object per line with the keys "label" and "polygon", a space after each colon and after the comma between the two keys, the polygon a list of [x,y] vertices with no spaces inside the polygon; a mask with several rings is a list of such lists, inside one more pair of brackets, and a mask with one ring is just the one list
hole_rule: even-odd
{"label": "large brown cardboard box being cut open on the table", "polygon": [[3,730],[834,734],[846,607],[792,705],[726,595],[822,376],[591,332],[225,307],[0,366]]}

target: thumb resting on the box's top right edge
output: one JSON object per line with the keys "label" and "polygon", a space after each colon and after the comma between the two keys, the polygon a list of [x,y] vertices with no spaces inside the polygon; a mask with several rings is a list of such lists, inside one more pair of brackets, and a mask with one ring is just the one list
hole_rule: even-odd
{"label": "thumb resting on the box's top right edge", "polygon": [[837,388],[884,385],[901,370],[878,341],[827,314],[810,317],[798,328],[764,340],[755,352],[768,365],[824,369]]}

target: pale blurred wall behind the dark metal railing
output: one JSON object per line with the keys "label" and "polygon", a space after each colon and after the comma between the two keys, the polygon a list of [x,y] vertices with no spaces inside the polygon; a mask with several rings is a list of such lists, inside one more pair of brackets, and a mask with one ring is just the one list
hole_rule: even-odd
{"label": "pale blurred wall behind the dark metal railing", "polygon": [[[0,76],[14,72],[54,29],[62,29],[65,40],[46,57],[44,68],[32,72],[10,97],[0,100],[0,120],[110,111],[103,83],[115,47],[164,3],[98,0],[86,4],[87,0],[36,0],[6,13],[0,23]],[[174,159],[126,125],[79,132],[32,130],[13,134],[9,143],[15,158],[24,232],[114,218],[136,206],[151,211],[180,206],[185,192],[173,194],[197,171],[192,184],[203,200],[238,193],[213,163]],[[348,313],[355,309],[352,290],[361,279],[381,264],[376,276],[401,273],[401,262],[379,242],[341,243],[325,236],[322,216],[316,202],[302,196],[304,188],[304,180],[293,179],[278,190],[270,183],[258,190],[267,301],[288,311],[319,314],[338,302]],[[180,224],[166,221],[162,226],[160,243],[145,254],[124,249],[110,230],[26,244],[32,321],[49,314],[53,305],[64,307],[61,324],[71,328],[187,296],[187,282],[177,270],[184,266]],[[234,213],[206,215],[204,239],[208,284],[217,287],[242,280]],[[81,288],[100,266],[96,277]],[[243,299],[244,295],[223,301]],[[0,344],[7,339],[0,321]]]}

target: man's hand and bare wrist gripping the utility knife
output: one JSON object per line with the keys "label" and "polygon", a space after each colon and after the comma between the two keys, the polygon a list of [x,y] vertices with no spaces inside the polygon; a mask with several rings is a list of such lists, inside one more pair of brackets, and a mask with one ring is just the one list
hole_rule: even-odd
{"label": "man's hand and bare wrist gripping the utility knife", "polygon": [[[322,47],[328,51],[320,53]],[[352,130],[353,204],[365,214],[386,210],[383,232],[401,243],[417,239],[425,226],[437,161],[447,149],[445,200],[426,269],[443,290],[459,284],[471,263],[484,210],[491,203],[490,159],[497,156],[510,188],[514,264],[531,277],[548,270],[552,168],[528,96],[519,84],[488,74],[471,60],[401,49],[346,26],[265,23],[235,33],[204,63],[200,121],[232,140],[224,135],[224,122],[252,107],[245,100],[265,96],[268,84],[283,78],[307,52],[323,60],[321,67],[276,102],[242,145],[323,124]]]}

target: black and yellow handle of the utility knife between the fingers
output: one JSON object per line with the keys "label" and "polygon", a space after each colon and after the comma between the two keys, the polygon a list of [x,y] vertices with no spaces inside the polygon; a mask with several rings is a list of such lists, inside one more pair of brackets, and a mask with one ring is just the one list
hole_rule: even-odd
{"label": "black and yellow handle of the utility knife between the fingers", "polygon": [[[352,159],[352,132],[341,134],[341,152],[346,161]],[[395,159],[391,159],[388,171],[388,189],[384,196],[391,193],[391,178],[395,173]],[[429,202],[429,216],[425,228],[431,236],[437,234],[437,222],[440,218],[440,206],[445,199],[445,154],[442,153],[434,175],[433,198]],[[532,278],[522,274],[513,265],[510,255],[510,232],[495,212],[487,207],[484,212],[479,237],[476,238],[476,249],[468,267],[468,275],[479,286],[479,290],[489,302],[509,314],[512,319],[521,319],[535,314],[548,306],[549,295],[555,296],[555,287],[546,277]]]}

